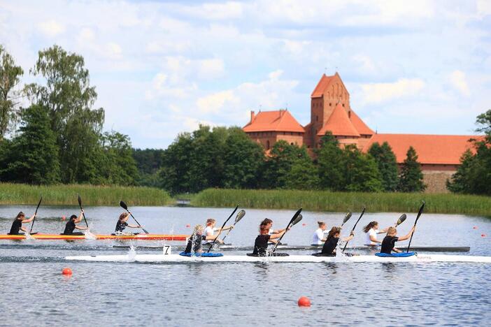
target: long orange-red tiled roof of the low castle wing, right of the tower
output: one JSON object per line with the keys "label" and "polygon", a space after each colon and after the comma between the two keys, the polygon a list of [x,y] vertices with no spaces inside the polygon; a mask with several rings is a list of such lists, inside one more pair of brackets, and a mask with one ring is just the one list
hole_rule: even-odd
{"label": "long orange-red tiled roof of the low castle wing, right of the tower", "polygon": [[418,154],[418,162],[426,164],[460,164],[460,157],[468,149],[473,149],[470,138],[481,138],[470,135],[425,135],[425,134],[375,134],[363,148],[368,152],[371,145],[378,142],[389,143],[396,155],[397,163],[406,159],[410,146]]}

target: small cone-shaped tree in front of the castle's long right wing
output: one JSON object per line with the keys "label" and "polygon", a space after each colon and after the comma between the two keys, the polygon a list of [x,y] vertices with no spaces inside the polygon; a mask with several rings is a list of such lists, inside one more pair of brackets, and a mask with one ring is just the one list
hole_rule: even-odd
{"label": "small cone-shaped tree in front of the castle's long right wing", "polygon": [[418,162],[418,154],[413,147],[409,147],[406,159],[402,164],[399,175],[397,191],[401,192],[421,192],[425,191],[426,185],[423,183],[421,165]]}

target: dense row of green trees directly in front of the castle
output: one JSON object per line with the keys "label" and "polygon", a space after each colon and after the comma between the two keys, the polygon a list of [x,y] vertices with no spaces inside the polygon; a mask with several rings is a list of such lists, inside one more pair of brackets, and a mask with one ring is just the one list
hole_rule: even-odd
{"label": "dense row of green trees directly in front of the castle", "polygon": [[329,189],[332,191],[423,191],[418,155],[411,147],[400,171],[390,145],[374,143],[364,154],[340,147],[327,134],[315,150],[276,142],[268,154],[239,127],[199,126],[180,133],[166,150],[134,150],[151,186],[171,194],[208,187],[235,189]]}

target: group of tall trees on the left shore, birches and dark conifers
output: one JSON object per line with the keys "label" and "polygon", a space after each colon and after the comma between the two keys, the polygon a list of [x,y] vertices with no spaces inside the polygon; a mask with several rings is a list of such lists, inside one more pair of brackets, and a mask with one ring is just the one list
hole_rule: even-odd
{"label": "group of tall trees on the left shore, birches and dark conifers", "polygon": [[21,86],[23,68],[0,45],[0,181],[136,184],[129,137],[102,131],[83,57],[54,45],[29,73],[38,82]]}

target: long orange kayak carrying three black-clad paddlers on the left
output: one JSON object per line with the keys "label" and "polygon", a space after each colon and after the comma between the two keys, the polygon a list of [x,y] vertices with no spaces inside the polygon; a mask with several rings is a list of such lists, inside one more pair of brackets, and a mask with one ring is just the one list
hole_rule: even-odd
{"label": "long orange kayak carrying three black-clad paddlers on the left", "polygon": [[[95,234],[96,240],[186,240],[189,235],[171,234],[134,234],[134,235],[111,235]],[[62,234],[33,234],[35,240],[85,240],[85,235],[62,235]],[[25,235],[1,234],[0,240],[25,240]]]}

